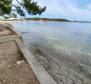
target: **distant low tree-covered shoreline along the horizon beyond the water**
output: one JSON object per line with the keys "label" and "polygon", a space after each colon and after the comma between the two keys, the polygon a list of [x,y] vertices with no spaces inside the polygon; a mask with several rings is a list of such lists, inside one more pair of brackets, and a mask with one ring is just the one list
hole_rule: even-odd
{"label": "distant low tree-covered shoreline along the horizon beyond the water", "polygon": [[91,23],[91,21],[77,21],[77,20],[68,20],[68,19],[62,19],[62,18],[9,18],[9,19],[4,19],[2,21],[54,21],[54,22],[77,22],[77,23]]}

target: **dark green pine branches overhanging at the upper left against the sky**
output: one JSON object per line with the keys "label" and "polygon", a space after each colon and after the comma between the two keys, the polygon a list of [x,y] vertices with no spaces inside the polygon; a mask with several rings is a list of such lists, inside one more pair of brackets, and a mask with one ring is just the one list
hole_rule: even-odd
{"label": "dark green pine branches overhanging at the upper left against the sky", "polygon": [[25,16],[25,11],[30,15],[41,15],[46,7],[40,7],[37,2],[32,0],[16,0],[17,4],[12,3],[13,0],[1,0],[0,1],[0,15],[10,15],[15,10],[14,13],[18,13],[20,16]]}

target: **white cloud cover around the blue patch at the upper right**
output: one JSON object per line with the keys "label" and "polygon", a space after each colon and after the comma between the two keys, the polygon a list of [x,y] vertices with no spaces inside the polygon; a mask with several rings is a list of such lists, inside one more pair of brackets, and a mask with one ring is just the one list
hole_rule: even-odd
{"label": "white cloud cover around the blue patch at the upper right", "polygon": [[47,6],[45,15],[68,16],[81,20],[91,20],[91,4],[84,9],[78,7],[75,0],[37,0],[41,6]]}

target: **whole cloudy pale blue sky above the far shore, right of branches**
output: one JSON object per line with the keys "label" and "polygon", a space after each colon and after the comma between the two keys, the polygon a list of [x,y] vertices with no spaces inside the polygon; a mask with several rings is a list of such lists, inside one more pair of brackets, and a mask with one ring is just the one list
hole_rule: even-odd
{"label": "whole cloudy pale blue sky above the far shore, right of branches", "polygon": [[[69,20],[91,21],[91,0],[34,0],[46,6],[41,16],[46,18],[65,18]],[[28,17],[28,15],[27,15]]]}

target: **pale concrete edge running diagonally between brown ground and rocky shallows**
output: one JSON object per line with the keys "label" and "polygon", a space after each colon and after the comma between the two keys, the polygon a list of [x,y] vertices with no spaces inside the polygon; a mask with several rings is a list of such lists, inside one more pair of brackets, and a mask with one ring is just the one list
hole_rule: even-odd
{"label": "pale concrete edge running diagonally between brown ground and rocky shallows", "polygon": [[23,42],[20,39],[16,40],[18,47],[23,53],[25,59],[31,66],[35,76],[39,80],[40,84],[57,84],[53,78],[45,71],[44,67],[36,60],[28,48],[25,47]]}

